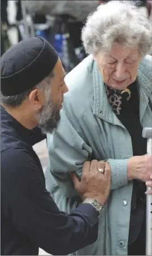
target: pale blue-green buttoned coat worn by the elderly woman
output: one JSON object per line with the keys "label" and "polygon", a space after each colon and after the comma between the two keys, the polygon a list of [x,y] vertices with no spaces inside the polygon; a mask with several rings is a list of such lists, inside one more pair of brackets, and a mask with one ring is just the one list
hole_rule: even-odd
{"label": "pale blue-green buttoned coat worn by the elderly woman", "polygon": [[[152,62],[147,55],[138,68],[140,122],[152,125]],[[127,159],[132,157],[131,136],[108,104],[105,86],[92,55],[65,79],[69,92],[64,97],[57,132],[47,136],[49,166],[46,185],[62,211],[80,203],[69,172],[81,176],[87,159],[107,159],[112,170],[111,193],[99,219],[98,240],[77,255],[128,255],[132,181],[127,179]],[[51,179],[48,170],[51,171]],[[58,184],[58,185],[57,185]]]}

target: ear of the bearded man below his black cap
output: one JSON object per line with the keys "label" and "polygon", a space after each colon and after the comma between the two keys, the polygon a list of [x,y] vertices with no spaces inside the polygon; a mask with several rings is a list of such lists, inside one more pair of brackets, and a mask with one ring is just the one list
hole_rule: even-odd
{"label": "ear of the bearded man below his black cap", "polygon": [[37,109],[41,109],[42,105],[44,104],[44,94],[40,89],[34,89],[29,94],[29,101],[35,106]]}

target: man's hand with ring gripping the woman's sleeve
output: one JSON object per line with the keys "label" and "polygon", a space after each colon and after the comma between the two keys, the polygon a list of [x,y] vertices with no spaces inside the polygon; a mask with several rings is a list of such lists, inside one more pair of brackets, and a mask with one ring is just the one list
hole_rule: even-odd
{"label": "man's hand with ring gripping the woman's sleeve", "polygon": [[[103,169],[105,172],[99,172],[98,169]],[[96,199],[101,205],[105,204],[111,183],[111,169],[108,163],[97,160],[86,161],[82,167],[81,181],[75,173],[71,173],[71,178],[82,199]]]}

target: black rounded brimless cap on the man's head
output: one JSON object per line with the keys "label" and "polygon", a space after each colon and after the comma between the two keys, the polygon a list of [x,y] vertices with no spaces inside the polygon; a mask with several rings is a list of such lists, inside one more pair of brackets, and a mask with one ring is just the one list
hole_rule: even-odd
{"label": "black rounded brimless cap on the man's head", "polygon": [[12,46],[0,60],[3,96],[14,96],[33,88],[53,71],[57,61],[57,51],[42,37]]}

